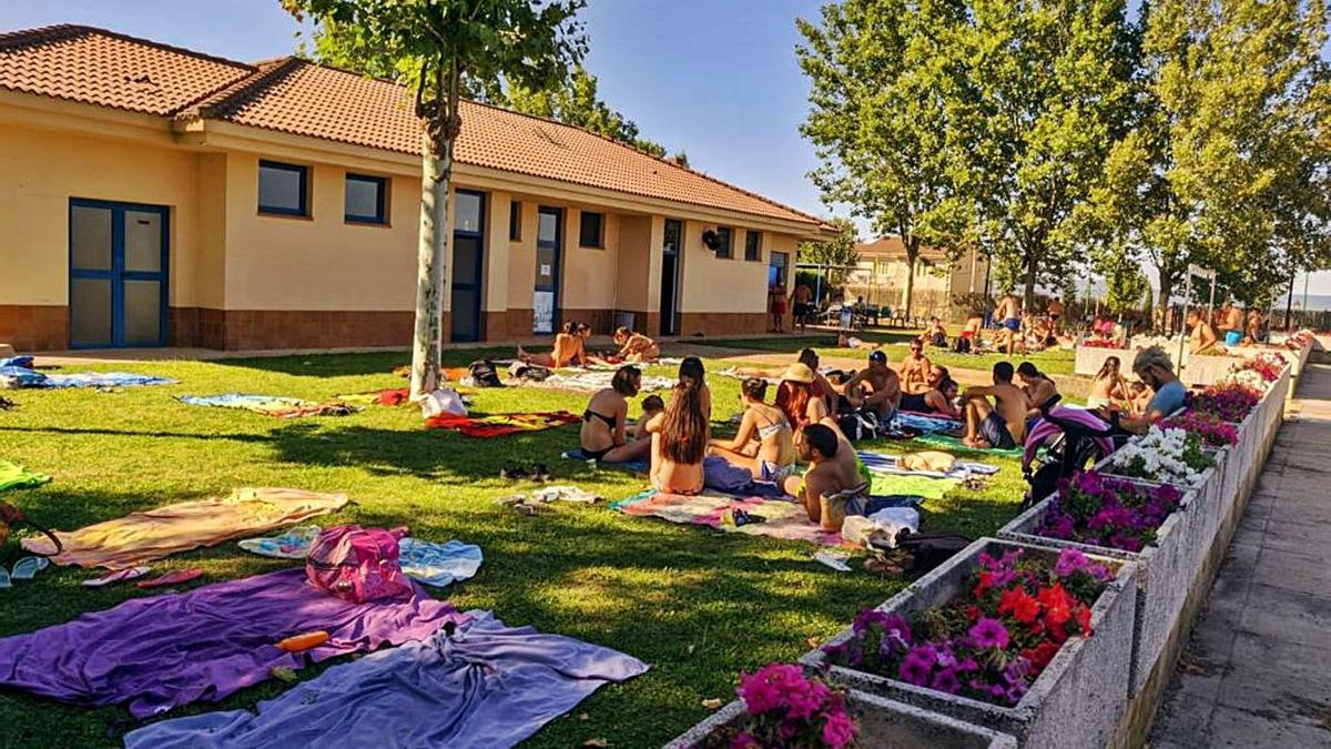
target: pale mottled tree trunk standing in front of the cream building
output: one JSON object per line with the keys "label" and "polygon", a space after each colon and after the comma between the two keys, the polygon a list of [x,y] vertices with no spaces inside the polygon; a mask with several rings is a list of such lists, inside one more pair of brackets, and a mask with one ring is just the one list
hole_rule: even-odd
{"label": "pale mottled tree trunk standing in front of the cream building", "polygon": [[443,279],[449,257],[449,183],[453,140],[435,156],[430,135],[421,145],[421,236],[417,245],[415,336],[411,345],[411,397],[434,392],[443,349]]}

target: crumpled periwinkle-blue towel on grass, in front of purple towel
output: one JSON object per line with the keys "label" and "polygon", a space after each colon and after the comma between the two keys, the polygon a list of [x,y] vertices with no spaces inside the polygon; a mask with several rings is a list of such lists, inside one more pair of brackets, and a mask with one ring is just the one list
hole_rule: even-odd
{"label": "crumpled periwinkle-blue towel on grass, in front of purple towel", "polygon": [[608,648],[506,626],[490,612],[470,624],[330,668],[257,712],[173,718],[125,736],[125,749],[278,749],[519,744],[604,684],[644,673]]}

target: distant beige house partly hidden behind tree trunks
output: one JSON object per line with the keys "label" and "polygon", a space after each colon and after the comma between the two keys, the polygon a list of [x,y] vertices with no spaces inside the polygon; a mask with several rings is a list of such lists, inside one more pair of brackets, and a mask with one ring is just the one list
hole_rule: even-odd
{"label": "distant beige house partly hidden behind tree trunks", "polygon": [[[858,269],[848,277],[847,296],[862,296],[866,303],[890,308],[893,313],[904,311],[908,269],[901,237],[889,235],[861,243],[856,251],[860,253]],[[944,251],[921,248],[914,268],[912,313],[948,317],[954,300],[984,293],[986,263],[985,256],[974,251],[949,263]]]}

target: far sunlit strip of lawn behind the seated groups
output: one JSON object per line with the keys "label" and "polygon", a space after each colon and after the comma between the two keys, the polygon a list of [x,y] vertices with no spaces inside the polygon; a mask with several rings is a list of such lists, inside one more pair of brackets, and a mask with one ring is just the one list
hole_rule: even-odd
{"label": "far sunlit strip of lawn behind the seated groups", "polygon": [[[900,364],[901,360],[905,359],[905,356],[910,352],[910,339],[918,335],[920,331],[865,331],[862,333],[857,333],[857,336],[865,341],[882,344],[882,351],[886,352],[888,360],[893,364]],[[868,353],[857,349],[837,348],[835,332],[808,336],[796,335],[788,339],[697,339],[689,340],[689,343],[773,352],[791,352],[801,348],[812,348],[819,352],[819,356],[835,356],[843,359],[861,357]],[[997,353],[953,353],[950,351],[926,347],[925,356],[928,356],[929,361],[933,364],[942,367],[956,369],[981,369],[985,372],[993,368],[994,364],[1004,360],[1012,361],[1013,364],[1030,361],[1046,374],[1073,374],[1073,364],[1075,360],[1075,352],[1070,349],[1051,349],[1029,355],[1018,353],[1009,357]]]}

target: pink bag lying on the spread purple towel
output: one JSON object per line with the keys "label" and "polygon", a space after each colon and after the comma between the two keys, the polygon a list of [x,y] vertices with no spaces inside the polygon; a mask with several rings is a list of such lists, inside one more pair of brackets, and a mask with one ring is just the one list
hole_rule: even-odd
{"label": "pink bag lying on the spread purple towel", "polygon": [[410,596],[411,582],[398,562],[398,538],[406,534],[406,528],[329,528],[310,544],[305,576],[314,586],[357,604]]}

